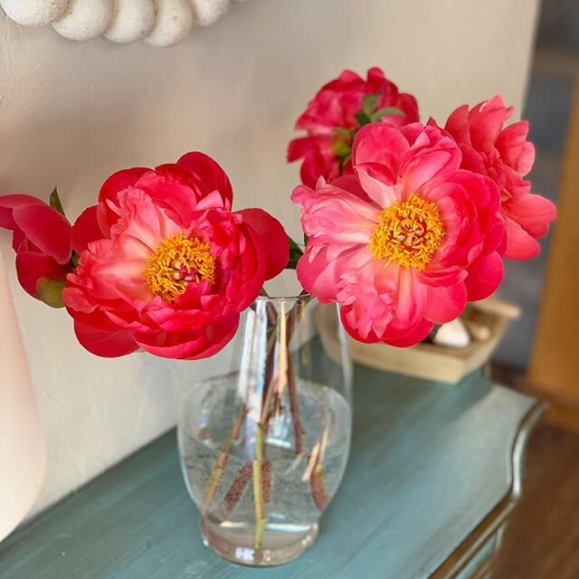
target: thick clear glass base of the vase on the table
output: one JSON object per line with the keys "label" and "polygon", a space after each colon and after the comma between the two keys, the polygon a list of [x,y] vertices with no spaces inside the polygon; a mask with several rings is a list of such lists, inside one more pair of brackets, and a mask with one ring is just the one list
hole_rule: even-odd
{"label": "thick clear glass base of the vase on the table", "polygon": [[255,527],[251,524],[215,524],[201,517],[199,525],[204,546],[216,555],[238,565],[268,567],[284,565],[297,559],[318,536],[318,524],[290,528],[267,526],[261,538],[261,547],[254,546]]}

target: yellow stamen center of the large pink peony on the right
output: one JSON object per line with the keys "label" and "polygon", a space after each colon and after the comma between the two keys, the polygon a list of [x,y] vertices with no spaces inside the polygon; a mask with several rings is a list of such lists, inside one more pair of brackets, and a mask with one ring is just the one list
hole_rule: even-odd
{"label": "yellow stamen center of the large pink peony on the right", "polygon": [[420,195],[410,195],[384,208],[370,236],[377,260],[397,261],[403,268],[423,270],[444,237],[439,208]]}

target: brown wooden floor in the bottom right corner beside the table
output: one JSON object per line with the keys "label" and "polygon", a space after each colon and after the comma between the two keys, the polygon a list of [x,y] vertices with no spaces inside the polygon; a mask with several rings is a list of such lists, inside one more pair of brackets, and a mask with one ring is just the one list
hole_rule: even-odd
{"label": "brown wooden floor in the bottom right corner beside the table", "polygon": [[492,578],[579,579],[579,434],[539,424],[526,462]]}

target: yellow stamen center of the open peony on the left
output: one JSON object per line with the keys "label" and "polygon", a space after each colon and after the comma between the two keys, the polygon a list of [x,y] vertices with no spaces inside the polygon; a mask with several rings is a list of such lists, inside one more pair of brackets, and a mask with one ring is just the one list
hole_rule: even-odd
{"label": "yellow stamen center of the open peony on the left", "polygon": [[191,282],[215,281],[215,258],[209,242],[185,233],[169,237],[157,247],[145,264],[148,288],[168,303],[174,302]]}

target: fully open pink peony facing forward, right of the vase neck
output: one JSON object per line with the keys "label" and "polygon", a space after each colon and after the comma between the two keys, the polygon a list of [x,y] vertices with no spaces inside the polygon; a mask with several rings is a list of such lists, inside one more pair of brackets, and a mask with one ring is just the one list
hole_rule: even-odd
{"label": "fully open pink peony facing forward, right of the vase neck", "polygon": [[299,280],[340,304],[352,337],[413,345],[498,288],[498,188],[460,161],[440,128],[372,124],[356,136],[353,176],[294,190],[309,236]]}

